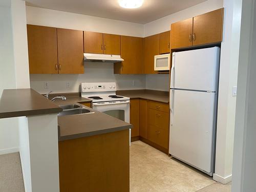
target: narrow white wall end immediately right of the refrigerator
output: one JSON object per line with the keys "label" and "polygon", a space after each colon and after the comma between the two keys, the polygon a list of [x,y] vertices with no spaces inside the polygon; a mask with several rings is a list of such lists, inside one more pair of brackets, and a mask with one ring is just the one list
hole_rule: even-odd
{"label": "narrow white wall end immediately right of the refrigerator", "polygon": [[232,176],[234,122],[236,97],[232,87],[237,86],[238,56],[241,27],[241,5],[224,0],[224,33],[221,44],[219,101],[217,117],[217,150],[214,179],[227,183]]}

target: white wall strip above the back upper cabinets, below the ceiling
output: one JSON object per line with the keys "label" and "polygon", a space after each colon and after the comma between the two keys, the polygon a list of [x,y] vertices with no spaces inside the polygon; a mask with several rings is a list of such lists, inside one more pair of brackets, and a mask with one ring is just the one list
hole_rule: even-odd
{"label": "white wall strip above the back upper cabinets, below the ceiling", "polygon": [[143,25],[27,6],[27,23],[66,29],[143,37]]}

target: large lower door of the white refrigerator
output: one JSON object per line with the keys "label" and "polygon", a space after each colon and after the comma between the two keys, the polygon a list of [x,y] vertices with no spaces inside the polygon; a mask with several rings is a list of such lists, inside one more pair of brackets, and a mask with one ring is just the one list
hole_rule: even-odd
{"label": "large lower door of the white refrigerator", "polygon": [[170,92],[169,154],[212,173],[216,93],[172,89]]}

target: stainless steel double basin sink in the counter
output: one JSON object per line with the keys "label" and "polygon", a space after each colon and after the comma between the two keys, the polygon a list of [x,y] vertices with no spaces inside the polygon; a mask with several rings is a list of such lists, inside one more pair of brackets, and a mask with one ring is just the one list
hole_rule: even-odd
{"label": "stainless steel double basin sink in the counter", "polygon": [[60,108],[62,108],[63,111],[58,113],[58,116],[94,113],[94,112],[84,108],[80,104],[63,104],[63,105],[59,105],[59,106],[60,106]]}

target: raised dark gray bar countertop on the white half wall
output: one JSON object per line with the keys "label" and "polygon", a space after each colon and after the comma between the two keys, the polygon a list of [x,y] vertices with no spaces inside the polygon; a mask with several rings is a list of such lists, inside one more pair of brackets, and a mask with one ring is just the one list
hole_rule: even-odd
{"label": "raised dark gray bar countertop on the white half wall", "polygon": [[33,89],[4,90],[0,99],[0,118],[59,113],[62,109]]}

